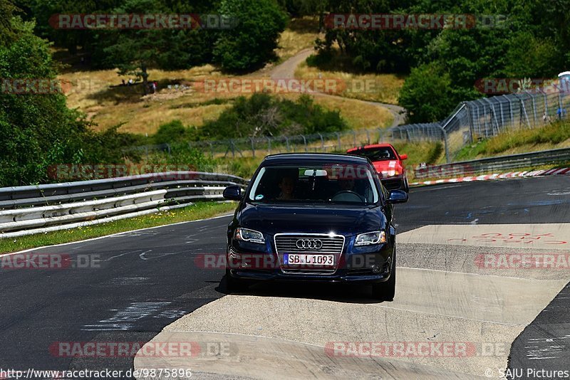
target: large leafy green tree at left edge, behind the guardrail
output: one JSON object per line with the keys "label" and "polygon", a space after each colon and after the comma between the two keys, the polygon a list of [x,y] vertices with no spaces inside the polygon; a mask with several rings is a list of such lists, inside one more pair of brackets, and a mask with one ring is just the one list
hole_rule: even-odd
{"label": "large leafy green tree at left edge, behind the guardrail", "polygon": [[0,183],[16,186],[47,180],[48,164],[77,162],[87,125],[68,110],[61,93],[14,94],[11,80],[55,79],[46,41],[33,23],[9,17],[14,40],[0,46]]}

